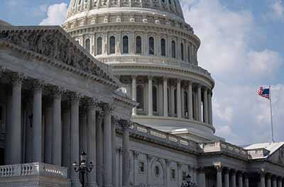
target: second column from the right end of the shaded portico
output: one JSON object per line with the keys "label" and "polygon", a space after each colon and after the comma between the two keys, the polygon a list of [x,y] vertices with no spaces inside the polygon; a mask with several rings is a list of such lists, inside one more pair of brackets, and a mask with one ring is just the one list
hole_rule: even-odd
{"label": "second column from the right end of the shaded portico", "polygon": [[112,187],[111,113],[114,108],[104,105],[104,186]]}

